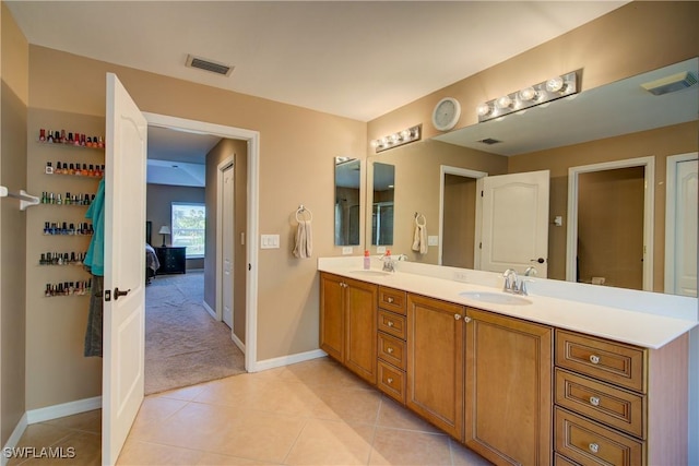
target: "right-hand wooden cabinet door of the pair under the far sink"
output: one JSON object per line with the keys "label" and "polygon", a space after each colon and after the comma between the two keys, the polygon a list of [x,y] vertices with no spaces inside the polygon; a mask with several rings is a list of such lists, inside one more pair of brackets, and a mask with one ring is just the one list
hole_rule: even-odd
{"label": "right-hand wooden cabinet door of the pair under the far sink", "polygon": [[345,287],[345,366],[376,384],[377,299],[376,285],[344,280]]}

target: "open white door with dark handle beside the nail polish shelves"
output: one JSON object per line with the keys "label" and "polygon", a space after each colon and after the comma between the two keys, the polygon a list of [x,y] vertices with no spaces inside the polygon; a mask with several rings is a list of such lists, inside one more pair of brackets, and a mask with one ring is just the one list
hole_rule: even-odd
{"label": "open white door with dark handle beside the nail polish shelves", "polygon": [[106,134],[102,463],[112,465],[143,401],[147,123],[111,73]]}

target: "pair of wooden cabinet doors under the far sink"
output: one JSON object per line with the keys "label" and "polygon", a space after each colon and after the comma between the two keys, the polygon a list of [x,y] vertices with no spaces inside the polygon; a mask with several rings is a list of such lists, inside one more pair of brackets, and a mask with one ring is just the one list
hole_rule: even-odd
{"label": "pair of wooden cabinet doors under the far sink", "polygon": [[371,384],[377,374],[378,286],[320,274],[320,348]]}

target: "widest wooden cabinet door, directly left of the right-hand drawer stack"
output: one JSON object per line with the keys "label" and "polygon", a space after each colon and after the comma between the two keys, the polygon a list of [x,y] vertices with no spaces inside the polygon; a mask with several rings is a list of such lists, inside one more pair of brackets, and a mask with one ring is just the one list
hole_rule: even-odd
{"label": "widest wooden cabinet door, directly left of the right-hand drawer stack", "polygon": [[498,465],[549,465],[553,330],[471,308],[466,321],[466,446]]}

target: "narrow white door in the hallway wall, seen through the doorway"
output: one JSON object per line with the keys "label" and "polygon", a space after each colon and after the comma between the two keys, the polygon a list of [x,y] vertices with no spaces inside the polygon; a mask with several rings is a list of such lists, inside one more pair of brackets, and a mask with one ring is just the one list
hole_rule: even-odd
{"label": "narrow white door in the hallway wall, seen through the doorway", "polygon": [[223,170],[223,205],[221,219],[222,232],[222,261],[223,266],[223,321],[233,330],[233,241],[234,241],[234,168],[229,165]]}

